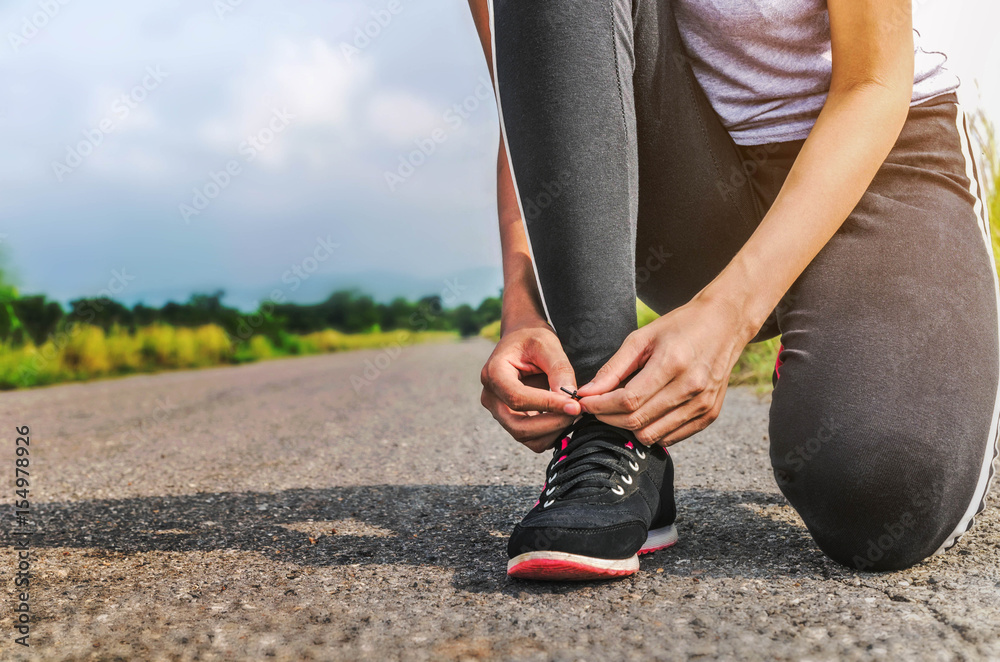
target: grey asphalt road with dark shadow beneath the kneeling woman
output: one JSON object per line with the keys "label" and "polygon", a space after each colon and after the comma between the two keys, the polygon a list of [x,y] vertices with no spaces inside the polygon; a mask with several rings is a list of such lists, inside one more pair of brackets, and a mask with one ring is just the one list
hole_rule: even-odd
{"label": "grey asphalt road with dark shadow beneath the kneeling woman", "polygon": [[[28,425],[38,522],[30,648],[3,527],[0,658],[1000,659],[996,498],[944,556],[841,568],[775,487],[767,402],[748,390],[674,451],[676,547],[620,581],[508,580],[506,535],[546,458],[480,410],[489,351],[0,394],[4,499]],[[382,369],[356,392],[366,361]]]}

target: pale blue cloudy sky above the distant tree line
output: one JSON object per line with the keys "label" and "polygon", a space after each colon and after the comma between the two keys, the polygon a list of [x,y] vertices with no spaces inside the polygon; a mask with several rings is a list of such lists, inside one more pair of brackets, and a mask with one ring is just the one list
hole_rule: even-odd
{"label": "pale blue cloudy sky above the distant tree line", "polygon": [[[1000,122],[1000,6],[914,8]],[[14,0],[0,35],[0,250],[23,293],[250,308],[500,286],[464,0]]]}

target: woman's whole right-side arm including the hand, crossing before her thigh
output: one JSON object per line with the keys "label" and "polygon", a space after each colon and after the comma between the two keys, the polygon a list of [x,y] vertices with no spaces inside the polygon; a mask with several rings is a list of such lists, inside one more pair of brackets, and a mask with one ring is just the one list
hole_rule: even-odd
{"label": "woman's whole right-side arm including the hand, crossing before her thigh", "polygon": [[715,420],[740,351],[850,215],[902,130],[913,88],[910,0],[828,7],[830,93],[771,209],[715,280],[633,333],[579,391],[586,411],[643,443],[676,443]]}

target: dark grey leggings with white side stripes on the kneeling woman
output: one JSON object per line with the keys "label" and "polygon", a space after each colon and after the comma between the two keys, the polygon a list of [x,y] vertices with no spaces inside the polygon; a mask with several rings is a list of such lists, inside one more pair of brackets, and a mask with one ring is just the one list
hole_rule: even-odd
{"label": "dark grey leggings with white side stripes on the kneeling woman", "polygon": [[[800,142],[733,143],[669,0],[494,0],[504,136],[546,314],[580,383],[729,262]],[[996,453],[997,284],[954,95],[911,109],[759,339],[781,335],[771,462],[822,550],[897,569],[952,545]],[[818,205],[822,204],[817,200]]]}

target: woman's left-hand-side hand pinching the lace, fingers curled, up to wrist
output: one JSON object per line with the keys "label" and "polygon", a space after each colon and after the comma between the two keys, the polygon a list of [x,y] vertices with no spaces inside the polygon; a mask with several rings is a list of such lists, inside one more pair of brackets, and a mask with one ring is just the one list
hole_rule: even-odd
{"label": "woman's left-hand-side hand pinching the lace, fingers curled, up to wrist", "polygon": [[560,390],[576,390],[576,375],[542,320],[504,332],[480,378],[483,406],[536,453],[551,447],[581,412],[580,403]]}

